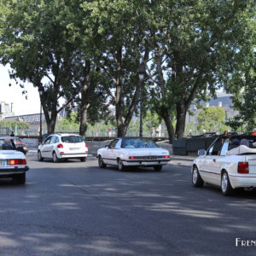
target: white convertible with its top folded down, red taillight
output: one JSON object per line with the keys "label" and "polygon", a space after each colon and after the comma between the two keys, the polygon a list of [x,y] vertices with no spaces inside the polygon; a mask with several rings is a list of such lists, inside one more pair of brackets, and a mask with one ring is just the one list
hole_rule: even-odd
{"label": "white convertible with its top folded down, red taillight", "polygon": [[224,195],[256,188],[256,136],[217,137],[207,151],[199,150],[191,172],[195,187],[217,185]]}

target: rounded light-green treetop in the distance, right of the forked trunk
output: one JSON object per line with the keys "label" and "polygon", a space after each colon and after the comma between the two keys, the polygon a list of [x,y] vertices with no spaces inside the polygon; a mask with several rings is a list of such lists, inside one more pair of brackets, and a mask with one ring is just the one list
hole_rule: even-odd
{"label": "rounded light-green treetop in the distance, right of the forked trunk", "polygon": [[223,108],[219,107],[207,107],[203,108],[197,117],[198,131],[203,131],[206,129],[207,131],[223,131],[225,113]]}

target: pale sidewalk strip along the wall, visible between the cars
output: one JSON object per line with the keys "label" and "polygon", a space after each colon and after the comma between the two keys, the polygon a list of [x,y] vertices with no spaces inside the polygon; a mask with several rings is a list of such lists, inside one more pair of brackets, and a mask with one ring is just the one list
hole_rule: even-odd
{"label": "pale sidewalk strip along the wall, visible between the cars", "polygon": [[[27,155],[37,155],[38,148],[28,148]],[[96,152],[91,152],[88,154],[88,156],[95,156]],[[174,155],[171,154],[171,161],[169,162],[170,166],[192,166],[193,160],[195,159],[195,156],[189,156],[189,155]]]}

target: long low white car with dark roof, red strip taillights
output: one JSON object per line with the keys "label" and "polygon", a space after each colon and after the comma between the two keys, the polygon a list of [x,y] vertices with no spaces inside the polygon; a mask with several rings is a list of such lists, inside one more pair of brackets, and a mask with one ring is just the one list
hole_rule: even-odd
{"label": "long low white car with dark roof, red strip taillights", "polygon": [[169,151],[159,148],[152,139],[144,137],[119,137],[105,148],[97,150],[100,168],[118,166],[119,171],[128,166],[151,166],[160,171],[170,161]]}

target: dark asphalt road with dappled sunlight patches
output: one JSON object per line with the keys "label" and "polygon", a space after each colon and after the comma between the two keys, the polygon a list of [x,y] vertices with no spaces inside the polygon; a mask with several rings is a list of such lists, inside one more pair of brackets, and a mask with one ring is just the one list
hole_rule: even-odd
{"label": "dark asphalt road with dappled sunlight patches", "polygon": [[256,193],[195,189],[190,169],[119,172],[96,158],[27,156],[26,185],[0,179],[0,255],[255,255]]}

